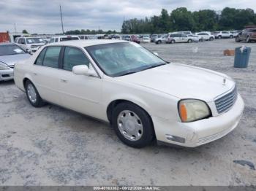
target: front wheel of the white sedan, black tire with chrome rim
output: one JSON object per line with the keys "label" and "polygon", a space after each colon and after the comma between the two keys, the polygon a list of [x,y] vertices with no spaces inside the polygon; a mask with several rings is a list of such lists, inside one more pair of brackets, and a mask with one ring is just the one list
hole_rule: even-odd
{"label": "front wheel of the white sedan, black tire with chrome rim", "polygon": [[154,139],[151,118],[135,104],[118,104],[113,109],[111,121],[118,138],[129,147],[146,147]]}

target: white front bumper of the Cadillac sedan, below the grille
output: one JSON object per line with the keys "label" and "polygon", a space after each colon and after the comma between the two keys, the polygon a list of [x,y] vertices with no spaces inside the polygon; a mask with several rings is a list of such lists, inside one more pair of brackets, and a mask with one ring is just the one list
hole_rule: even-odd
{"label": "white front bumper of the Cadillac sedan, below the grille", "polygon": [[[244,101],[241,95],[238,95],[233,107],[219,116],[195,122],[173,122],[159,117],[152,117],[152,120],[157,141],[183,147],[197,147],[230,133],[238,125],[243,111]],[[178,141],[171,141],[170,137],[178,138]]]}

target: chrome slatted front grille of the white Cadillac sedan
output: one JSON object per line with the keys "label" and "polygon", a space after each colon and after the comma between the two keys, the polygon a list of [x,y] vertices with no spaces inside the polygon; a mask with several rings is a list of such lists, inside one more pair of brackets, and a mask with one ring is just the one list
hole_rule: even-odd
{"label": "chrome slatted front grille of the white Cadillac sedan", "polygon": [[217,112],[219,114],[226,112],[230,109],[233,104],[235,104],[237,98],[237,89],[236,86],[229,93],[222,95],[222,97],[217,98],[215,102],[215,106],[217,108]]}

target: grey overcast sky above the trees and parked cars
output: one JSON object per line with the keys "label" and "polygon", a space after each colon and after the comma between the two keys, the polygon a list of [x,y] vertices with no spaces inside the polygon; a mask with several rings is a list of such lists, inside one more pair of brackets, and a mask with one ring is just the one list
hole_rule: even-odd
{"label": "grey overcast sky above the trees and parked cars", "polygon": [[159,15],[162,8],[171,12],[177,7],[191,11],[222,10],[224,7],[256,10],[255,0],[0,0],[0,31],[23,29],[29,33],[61,33],[61,4],[64,31],[94,29],[120,31],[125,19]]}

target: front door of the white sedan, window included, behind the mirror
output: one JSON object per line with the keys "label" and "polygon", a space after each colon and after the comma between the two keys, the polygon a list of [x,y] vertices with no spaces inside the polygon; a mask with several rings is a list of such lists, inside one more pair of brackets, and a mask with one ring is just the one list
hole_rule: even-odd
{"label": "front door of the white sedan, window included, behind the mirror", "polygon": [[99,117],[99,113],[102,112],[99,105],[102,79],[72,72],[72,67],[78,65],[86,65],[89,69],[94,69],[89,58],[78,47],[65,47],[62,58],[59,79],[61,105],[83,114]]}

